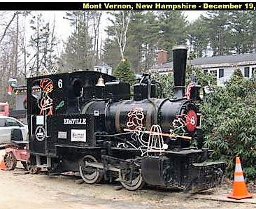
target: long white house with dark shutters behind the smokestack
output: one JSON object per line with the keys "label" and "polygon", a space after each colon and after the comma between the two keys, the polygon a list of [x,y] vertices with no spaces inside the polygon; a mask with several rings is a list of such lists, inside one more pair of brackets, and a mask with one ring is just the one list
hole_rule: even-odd
{"label": "long white house with dark shutters behind the smokestack", "polygon": [[[167,60],[164,60],[167,61]],[[235,69],[240,69],[245,78],[253,78],[256,69],[256,53],[243,55],[224,55],[213,57],[200,57],[187,60],[187,64],[201,69],[203,73],[213,73],[218,85],[224,85],[228,81]],[[149,69],[150,73],[169,73],[173,71],[172,62],[158,62],[157,65]]]}

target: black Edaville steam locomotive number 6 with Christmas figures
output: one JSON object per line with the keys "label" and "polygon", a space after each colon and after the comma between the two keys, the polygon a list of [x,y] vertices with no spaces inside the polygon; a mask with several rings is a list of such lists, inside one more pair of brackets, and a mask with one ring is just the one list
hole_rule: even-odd
{"label": "black Edaville steam locomotive number 6 with Christmas figures", "polygon": [[111,75],[77,71],[29,78],[27,115],[31,164],[49,173],[79,171],[93,184],[118,180],[136,190],[144,183],[208,189],[220,182],[224,162],[206,162],[209,150],[190,147],[201,131],[194,103],[185,97],[187,48],[173,49],[174,97],[144,74],[134,85]]}

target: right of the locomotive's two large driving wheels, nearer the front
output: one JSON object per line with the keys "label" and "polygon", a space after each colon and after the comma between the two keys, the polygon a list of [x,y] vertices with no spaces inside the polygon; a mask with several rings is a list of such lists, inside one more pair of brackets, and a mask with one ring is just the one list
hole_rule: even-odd
{"label": "right of the locomotive's two large driving wheels, nearer the front", "polygon": [[143,176],[141,175],[141,169],[138,169],[138,168],[136,168],[136,170],[133,171],[133,176],[131,180],[129,180],[130,178],[129,172],[125,173],[125,175],[122,175],[120,173],[120,177],[121,177],[121,182],[120,182],[121,185],[129,191],[142,189],[142,187],[145,185],[145,180],[143,180]]}

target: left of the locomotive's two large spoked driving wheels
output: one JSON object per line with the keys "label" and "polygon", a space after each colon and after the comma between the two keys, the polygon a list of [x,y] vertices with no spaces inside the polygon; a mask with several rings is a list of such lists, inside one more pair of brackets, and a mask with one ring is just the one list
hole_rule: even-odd
{"label": "left of the locomotive's two large spoked driving wheels", "polygon": [[83,157],[83,165],[79,166],[80,175],[87,184],[99,183],[102,179],[103,173],[99,168],[86,166],[86,162],[97,163],[97,159],[92,155]]}

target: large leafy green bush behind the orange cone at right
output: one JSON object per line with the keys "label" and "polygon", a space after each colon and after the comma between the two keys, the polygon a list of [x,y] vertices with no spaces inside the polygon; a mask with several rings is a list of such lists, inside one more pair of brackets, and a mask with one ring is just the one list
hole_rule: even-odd
{"label": "large leafy green bush behind the orange cone at right", "polygon": [[213,158],[227,162],[232,177],[235,157],[241,157],[248,179],[256,177],[256,79],[236,71],[226,87],[215,87],[201,106],[204,146]]}

